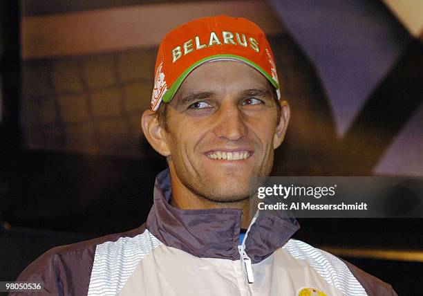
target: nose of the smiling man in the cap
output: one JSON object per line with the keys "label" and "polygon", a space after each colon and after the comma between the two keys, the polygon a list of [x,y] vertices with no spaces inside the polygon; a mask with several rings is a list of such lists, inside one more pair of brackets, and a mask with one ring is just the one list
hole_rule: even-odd
{"label": "nose of the smiling man in the cap", "polygon": [[216,114],[216,127],[214,133],[219,138],[236,141],[248,134],[245,116],[234,104],[222,104]]}

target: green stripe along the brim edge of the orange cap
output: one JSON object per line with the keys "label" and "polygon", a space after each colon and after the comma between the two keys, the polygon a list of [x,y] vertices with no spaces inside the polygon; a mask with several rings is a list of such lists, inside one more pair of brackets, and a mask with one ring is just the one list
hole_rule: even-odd
{"label": "green stripe along the brim edge of the orange cap", "polygon": [[176,91],[178,91],[180,84],[182,84],[182,82],[189,75],[189,73],[191,73],[191,71],[193,71],[196,67],[200,66],[201,64],[204,64],[205,62],[209,62],[209,61],[212,61],[214,59],[222,59],[222,58],[239,60],[240,62],[244,62],[245,64],[252,66],[257,71],[259,71],[261,74],[263,74],[267,78],[267,80],[270,81],[270,83],[272,84],[272,86],[274,86],[275,89],[279,89],[278,82],[276,80],[274,80],[273,77],[269,75],[269,73],[264,71],[264,69],[261,68],[261,66],[259,66],[258,64],[250,61],[250,59],[245,59],[245,57],[241,57],[239,55],[210,55],[209,57],[205,57],[204,59],[200,59],[197,62],[195,62],[194,64],[192,64],[191,66],[189,66],[187,68],[187,70],[185,70],[178,77],[178,79],[175,80],[175,82],[173,82],[172,86],[167,90],[167,92],[164,93],[162,101],[167,102],[167,103],[170,102],[173,99],[173,96],[175,95]]}

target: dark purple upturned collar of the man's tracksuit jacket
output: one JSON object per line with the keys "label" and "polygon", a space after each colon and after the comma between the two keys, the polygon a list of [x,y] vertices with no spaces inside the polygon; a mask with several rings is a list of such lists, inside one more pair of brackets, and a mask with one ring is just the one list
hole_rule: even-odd
{"label": "dark purple upturned collar of the man's tracksuit jacket", "polygon": [[[240,259],[238,237],[242,210],[180,210],[172,207],[169,204],[169,169],[156,177],[153,198],[147,228],[166,246],[196,257]],[[260,211],[247,234],[245,252],[252,263],[262,261],[283,246],[298,229],[297,220],[284,211]]]}

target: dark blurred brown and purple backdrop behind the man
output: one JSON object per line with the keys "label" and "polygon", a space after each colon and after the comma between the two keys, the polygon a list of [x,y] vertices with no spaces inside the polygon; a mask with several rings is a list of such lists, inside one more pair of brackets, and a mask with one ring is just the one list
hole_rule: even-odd
{"label": "dark blurred brown and purple backdrop behind the man", "polygon": [[[0,1],[0,281],[138,227],[156,50],[191,19],[265,31],[292,109],[273,176],[423,176],[423,1]],[[301,239],[423,295],[423,219],[301,219]]]}

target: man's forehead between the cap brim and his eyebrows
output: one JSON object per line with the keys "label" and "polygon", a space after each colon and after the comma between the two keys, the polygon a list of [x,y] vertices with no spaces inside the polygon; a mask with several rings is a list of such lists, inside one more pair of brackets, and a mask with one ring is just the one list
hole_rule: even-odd
{"label": "man's forehead between the cap brim and his eyebrows", "polygon": [[272,86],[259,71],[243,62],[207,62],[189,73],[172,101],[197,91],[238,93],[246,89],[271,90]]}

